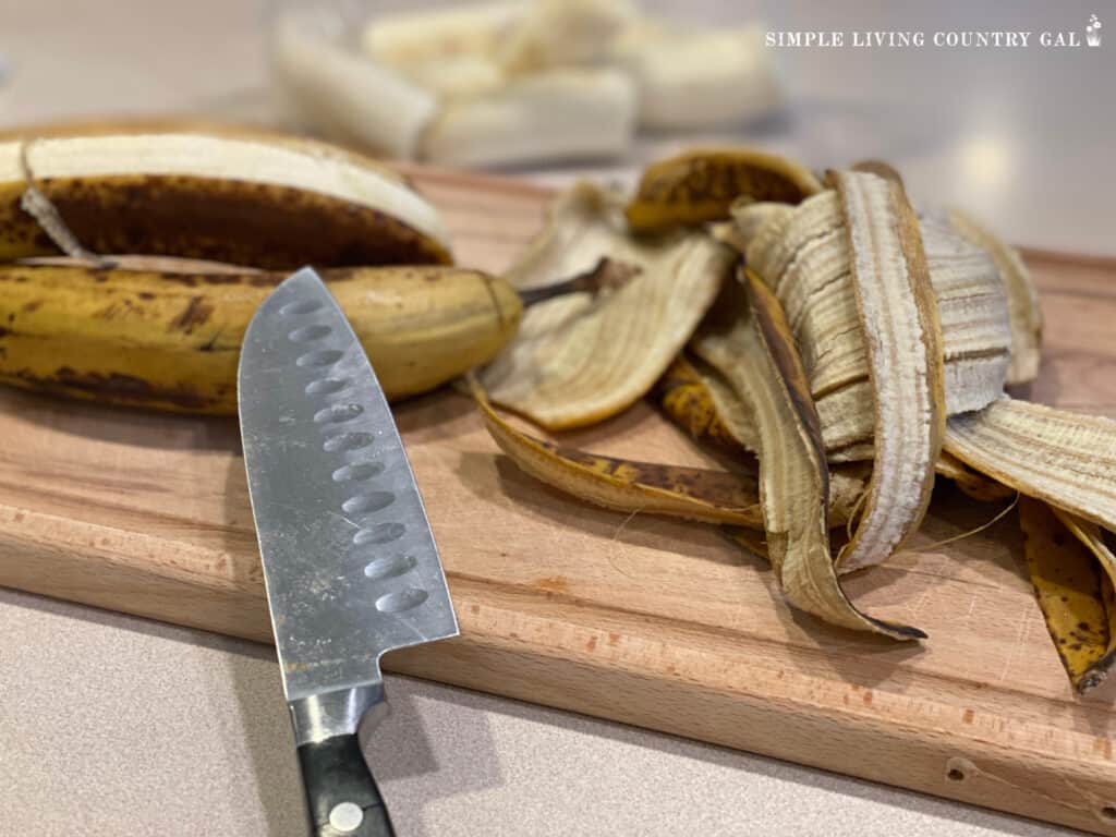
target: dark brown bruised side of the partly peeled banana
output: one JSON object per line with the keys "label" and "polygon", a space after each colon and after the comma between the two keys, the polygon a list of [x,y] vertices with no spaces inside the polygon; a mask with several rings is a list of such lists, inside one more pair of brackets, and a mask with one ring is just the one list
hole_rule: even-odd
{"label": "dark brown bruised side of the partly peeled banana", "polygon": [[[331,195],[270,183],[185,175],[36,180],[66,227],[97,253],[144,253],[276,270],[449,263],[435,240]],[[58,248],[20,208],[26,183],[0,184],[0,259]]]}

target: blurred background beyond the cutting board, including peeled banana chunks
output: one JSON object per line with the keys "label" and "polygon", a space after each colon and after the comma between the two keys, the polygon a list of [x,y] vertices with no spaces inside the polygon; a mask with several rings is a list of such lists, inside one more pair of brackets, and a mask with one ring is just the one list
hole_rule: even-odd
{"label": "blurred background beyond the cutting board, including peeled banana chunks", "polygon": [[[1089,48],[1094,18],[1110,29]],[[764,45],[800,30],[846,45]],[[850,42],[998,30],[1033,35],[1026,48]],[[1043,48],[1042,31],[1080,46]],[[231,119],[552,182],[632,179],[712,143],[816,169],[877,157],[923,203],[1096,256],[1116,254],[1113,78],[1116,6],[1100,0],[0,0],[0,128]]]}

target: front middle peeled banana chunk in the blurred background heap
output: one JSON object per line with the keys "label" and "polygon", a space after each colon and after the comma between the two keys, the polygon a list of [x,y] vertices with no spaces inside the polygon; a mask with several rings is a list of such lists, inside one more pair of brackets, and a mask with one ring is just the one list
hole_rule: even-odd
{"label": "front middle peeled banana chunk in the blurred background heap", "polygon": [[422,157],[472,166],[616,156],[634,125],[635,92],[624,74],[556,69],[449,100],[423,136]]}

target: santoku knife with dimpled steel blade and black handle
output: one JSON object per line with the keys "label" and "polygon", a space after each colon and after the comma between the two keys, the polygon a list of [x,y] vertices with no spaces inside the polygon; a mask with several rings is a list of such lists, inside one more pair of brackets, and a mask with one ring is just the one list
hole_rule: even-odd
{"label": "santoku knife with dimpled steel blade and black handle", "polygon": [[394,835],[357,725],[386,713],[381,655],[456,636],[458,622],[384,391],[309,268],[256,312],[238,386],[310,834]]}

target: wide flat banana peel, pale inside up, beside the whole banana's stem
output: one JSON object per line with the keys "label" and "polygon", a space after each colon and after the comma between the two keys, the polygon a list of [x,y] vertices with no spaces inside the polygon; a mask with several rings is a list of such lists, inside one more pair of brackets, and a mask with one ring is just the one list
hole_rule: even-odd
{"label": "wide flat banana peel, pale inside up, beside the whole banana's stem", "polygon": [[547,430],[591,424],[642,398],[690,338],[734,254],[700,232],[635,241],[615,200],[580,183],[504,273],[513,287],[546,285],[607,257],[627,271],[619,289],[532,306],[516,339],[483,371],[492,402]]}

